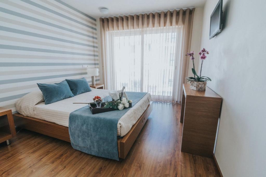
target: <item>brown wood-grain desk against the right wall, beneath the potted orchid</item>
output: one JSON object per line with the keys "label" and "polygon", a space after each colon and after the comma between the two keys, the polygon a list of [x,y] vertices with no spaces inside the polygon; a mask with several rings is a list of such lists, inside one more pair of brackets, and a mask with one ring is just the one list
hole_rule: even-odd
{"label": "brown wood-grain desk against the right wall, beneath the potted orchid", "polygon": [[181,151],[213,158],[222,98],[209,87],[195,91],[183,84]]}

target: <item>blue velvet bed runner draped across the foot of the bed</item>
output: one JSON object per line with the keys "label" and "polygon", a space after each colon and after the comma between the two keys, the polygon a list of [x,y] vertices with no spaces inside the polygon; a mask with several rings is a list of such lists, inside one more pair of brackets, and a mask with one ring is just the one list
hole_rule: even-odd
{"label": "blue velvet bed runner draped across the foot of the bed", "polygon": [[[146,92],[127,92],[132,107],[147,94]],[[89,106],[82,107],[69,115],[69,135],[74,149],[119,160],[117,148],[117,124],[119,119],[131,108],[92,114]]]}

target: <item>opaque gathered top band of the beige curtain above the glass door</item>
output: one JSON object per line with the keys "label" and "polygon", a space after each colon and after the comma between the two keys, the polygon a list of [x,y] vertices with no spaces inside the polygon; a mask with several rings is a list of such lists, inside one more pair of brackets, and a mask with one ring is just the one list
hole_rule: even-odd
{"label": "opaque gathered top band of the beige curtain above the glass door", "polygon": [[174,11],[155,12],[149,14],[128,15],[118,17],[100,18],[101,35],[106,31],[119,31],[127,29],[139,29],[139,28],[156,28],[167,26],[184,25],[185,31],[190,33],[193,23],[193,9],[180,9]]}

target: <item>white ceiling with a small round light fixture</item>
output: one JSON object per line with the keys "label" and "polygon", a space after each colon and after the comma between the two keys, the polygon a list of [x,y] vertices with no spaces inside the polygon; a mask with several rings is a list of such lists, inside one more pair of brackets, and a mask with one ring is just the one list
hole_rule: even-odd
{"label": "white ceiling with a small round light fixture", "polygon": [[[106,17],[130,15],[154,11],[171,10],[185,7],[203,7],[206,0],[62,0],[72,7],[93,16]],[[106,7],[108,14],[102,14],[99,9]]]}

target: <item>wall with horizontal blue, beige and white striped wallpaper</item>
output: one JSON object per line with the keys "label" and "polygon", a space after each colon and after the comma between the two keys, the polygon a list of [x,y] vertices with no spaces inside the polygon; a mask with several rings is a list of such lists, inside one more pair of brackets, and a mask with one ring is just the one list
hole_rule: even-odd
{"label": "wall with horizontal blue, beige and white striped wallpaper", "polygon": [[61,0],[0,1],[0,107],[15,113],[36,83],[91,83],[82,65],[99,65],[96,19]]}

